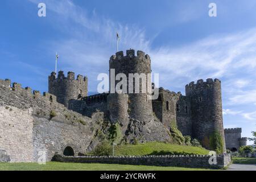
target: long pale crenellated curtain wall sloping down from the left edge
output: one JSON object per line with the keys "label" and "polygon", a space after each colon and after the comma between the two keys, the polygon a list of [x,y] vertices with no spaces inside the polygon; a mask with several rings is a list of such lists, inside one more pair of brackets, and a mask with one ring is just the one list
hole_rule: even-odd
{"label": "long pale crenellated curtain wall sloping down from the left edge", "polygon": [[0,150],[11,162],[36,162],[39,151],[51,160],[67,146],[75,154],[86,151],[97,130],[92,118],[68,110],[51,94],[10,84],[0,80]]}

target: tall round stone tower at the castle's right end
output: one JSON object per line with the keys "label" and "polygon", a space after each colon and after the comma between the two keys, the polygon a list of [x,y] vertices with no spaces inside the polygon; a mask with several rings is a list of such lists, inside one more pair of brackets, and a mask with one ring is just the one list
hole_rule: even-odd
{"label": "tall round stone tower at the castle's right end", "polygon": [[206,82],[198,80],[185,86],[186,96],[191,101],[192,137],[209,147],[210,135],[220,133],[224,142],[225,135],[222,119],[221,81],[209,78]]}

